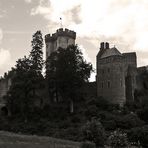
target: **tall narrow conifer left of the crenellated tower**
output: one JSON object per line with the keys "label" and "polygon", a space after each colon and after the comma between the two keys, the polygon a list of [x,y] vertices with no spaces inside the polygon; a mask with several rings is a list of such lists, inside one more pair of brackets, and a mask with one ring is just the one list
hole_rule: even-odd
{"label": "tall narrow conifer left of the crenellated tower", "polygon": [[[31,80],[32,80],[32,91],[33,98],[39,99],[39,95],[36,93],[39,89],[44,87],[44,78],[42,75],[42,70],[44,66],[43,61],[43,38],[41,31],[37,31],[32,36],[32,50],[30,52],[29,58],[31,61]],[[40,98],[41,99],[41,98]]]}

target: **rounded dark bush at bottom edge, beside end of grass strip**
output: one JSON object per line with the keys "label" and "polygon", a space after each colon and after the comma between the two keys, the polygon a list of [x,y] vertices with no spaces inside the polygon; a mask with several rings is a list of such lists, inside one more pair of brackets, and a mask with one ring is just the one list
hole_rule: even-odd
{"label": "rounded dark bush at bottom edge, beside end of grass strip", "polygon": [[96,146],[103,146],[106,140],[105,130],[99,120],[92,119],[82,127],[83,140],[91,141]]}

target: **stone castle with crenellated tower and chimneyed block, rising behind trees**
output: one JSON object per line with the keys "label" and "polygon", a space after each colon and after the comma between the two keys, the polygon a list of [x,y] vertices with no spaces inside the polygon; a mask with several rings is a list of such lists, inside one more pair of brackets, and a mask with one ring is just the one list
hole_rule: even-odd
{"label": "stone castle with crenellated tower and chimneyed block, rising behind trees", "polygon": [[[76,32],[63,28],[56,30],[52,35],[45,35],[46,59],[59,47],[75,45],[75,39]],[[103,96],[109,102],[123,106],[126,102],[134,100],[136,89],[143,88],[143,80],[139,75],[147,71],[147,68],[137,68],[135,52],[120,53],[116,47],[110,48],[109,43],[102,42],[96,57],[96,70],[96,82],[89,83],[89,87],[85,86],[84,91],[89,93],[84,94]],[[3,96],[9,90],[10,82],[11,80],[7,79],[0,81],[0,104],[5,102]]]}

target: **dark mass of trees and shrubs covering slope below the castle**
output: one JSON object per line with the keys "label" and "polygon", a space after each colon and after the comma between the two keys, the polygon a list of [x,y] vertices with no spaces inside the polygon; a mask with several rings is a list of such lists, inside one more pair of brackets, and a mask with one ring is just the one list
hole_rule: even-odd
{"label": "dark mass of trees and shrubs covering slope below the castle", "polygon": [[[0,130],[85,141],[83,147],[148,147],[148,73],[144,89],[124,107],[102,97],[84,97],[81,89],[93,71],[77,45],[59,48],[43,61],[41,31],[33,34],[28,56],[17,60],[4,78],[11,86],[4,97],[8,116]],[[46,73],[43,75],[43,68]]]}

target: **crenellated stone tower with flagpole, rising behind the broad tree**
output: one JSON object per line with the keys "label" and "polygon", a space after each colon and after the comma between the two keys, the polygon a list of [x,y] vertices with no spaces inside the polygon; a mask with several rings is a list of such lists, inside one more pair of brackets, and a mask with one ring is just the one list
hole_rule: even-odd
{"label": "crenellated stone tower with flagpole, rising behind the broad tree", "polygon": [[63,30],[60,28],[56,33],[50,35],[45,35],[46,43],[46,59],[53,52],[56,51],[59,47],[67,48],[69,45],[74,45],[76,39],[76,32],[69,29]]}

